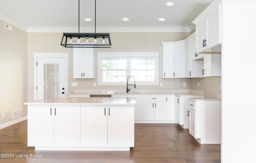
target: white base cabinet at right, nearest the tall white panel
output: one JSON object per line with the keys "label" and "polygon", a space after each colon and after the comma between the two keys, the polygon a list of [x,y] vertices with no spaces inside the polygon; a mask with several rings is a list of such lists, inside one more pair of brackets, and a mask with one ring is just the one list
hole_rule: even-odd
{"label": "white base cabinet at right, nearest the tall white panel", "polygon": [[189,101],[189,133],[201,144],[220,144],[221,101]]}

